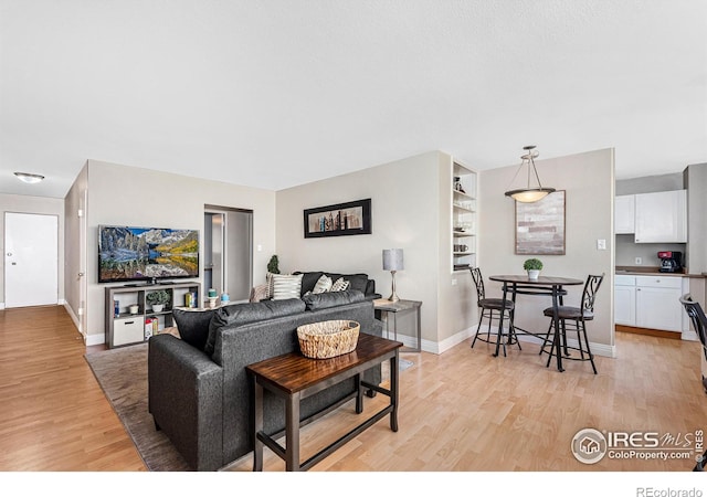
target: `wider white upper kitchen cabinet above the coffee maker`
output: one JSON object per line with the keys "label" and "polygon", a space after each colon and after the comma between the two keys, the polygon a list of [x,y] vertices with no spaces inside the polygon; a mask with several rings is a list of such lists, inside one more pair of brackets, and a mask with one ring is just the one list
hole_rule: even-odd
{"label": "wider white upper kitchen cabinet above the coffee maker", "polygon": [[687,243],[686,190],[636,193],[635,243]]}

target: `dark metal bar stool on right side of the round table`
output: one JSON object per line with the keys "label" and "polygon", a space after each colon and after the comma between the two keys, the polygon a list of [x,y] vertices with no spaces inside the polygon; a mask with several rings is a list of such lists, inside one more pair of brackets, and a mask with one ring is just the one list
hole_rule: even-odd
{"label": "dark metal bar stool on right side of the round table", "polygon": [[[597,290],[599,290],[601,282],[603,279],[603,273],[601,275],[590,274],[587,277],[587,282],[584,283],[581,306],[572,307],[560,305],[558,307],[558,321],[560,324],[559,332],[555,332],[555,310],[552,309],[552,307],[548,307],[542,311],[545,316],[551,318],[550,326],[548,327],[548,332],[545,336],[545,340],[542,341],[542,347],[540,347],[540,355],[542,352],[549,353],[547,367],[550,366],[552,356],[557,353],[557,342],[555,340],[559,338],[560,346],[562,348],[562,351],[564,352],[564,359],[576,361],[590,361],[592,364],[592,370],[594,371],[594,374],[597,374],[594,355],[589,347],[589,339],[587,338],[587,321],[591,321],[592,319],[594,319],[594,299],[597,297]],[[577,332],[577,347],[571,347],[567,343],[568,327],[570,328],[570,330],[574,330]],[[551,332],[552,339],[550,339]],[[550,343],[549,351],[546,350],[548,343]],[[579,351],[580,357],[571,357],[570,350]]]}

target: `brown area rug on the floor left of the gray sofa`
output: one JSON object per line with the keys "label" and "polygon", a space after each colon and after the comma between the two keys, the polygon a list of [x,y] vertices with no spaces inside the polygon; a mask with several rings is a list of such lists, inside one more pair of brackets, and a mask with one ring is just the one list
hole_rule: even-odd
{"label": "brown area rug on the floor left of the gray sofa", "polygon": [[155,430],[147,411],[147,343],[87,353],[85,358],[147,468],[189,470],[169,438]]}

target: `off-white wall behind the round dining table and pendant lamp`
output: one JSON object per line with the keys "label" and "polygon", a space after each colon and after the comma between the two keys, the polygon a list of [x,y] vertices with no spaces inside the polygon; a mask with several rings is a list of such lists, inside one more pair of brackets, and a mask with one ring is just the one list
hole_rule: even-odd
{"label": "off-white wall behind the round dining table and pendant lamp", "polygon": [[[599,290],[595,318],[588,327],[592,351],[613,355],[613,198],[614,151],[603,149],[536,161],[544,186],[566,191],[566,254],[541,255],[546,276],[587,279],[605,273]],[[504,195],[518,165],[482,171],[479,181],[479,258],[486,279],[493,274],[524,274],[526,255],[515,254],[515,202]],[[597,250],[597,240],[606,250]],[[567,303],[579,303],[582,287],[568,287]],[[500,295],[500,286],[486,282],[489,294]],[[548,318],[542,309],[549,297],[519,296],[516,321],[526,329],[545,331]]]}

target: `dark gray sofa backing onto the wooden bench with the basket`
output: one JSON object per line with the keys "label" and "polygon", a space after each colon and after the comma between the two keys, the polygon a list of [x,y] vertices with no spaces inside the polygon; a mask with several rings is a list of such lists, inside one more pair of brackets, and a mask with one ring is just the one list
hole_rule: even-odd
{"label": "dark gray sofa backing onto the wooden bench with the basket", "polygon": [[[181,339],[157,335],[149,340],[149,412],[196,470],[222,468],[253,450],[253,385],[245,367],[298,351],[298,326],[351,319],[361,332],[382,335],[370,297],[357,289],[202,311],[173,309],[173,317]],[[363,377],[379,384],[380,366]],[[354,391],[349,380],[306,399],[302,417],[340,405]],[[266,394],[265,431],[276,433],[284,425],[284,403]]]}

